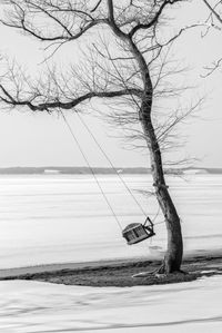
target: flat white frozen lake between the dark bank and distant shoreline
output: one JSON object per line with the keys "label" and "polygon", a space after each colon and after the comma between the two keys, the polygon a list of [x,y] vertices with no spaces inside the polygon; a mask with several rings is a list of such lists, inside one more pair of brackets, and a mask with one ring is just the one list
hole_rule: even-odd
{"label": "flat white frozen lake between the dark bank and distant shoreline", "polygon": [[[158,206],[150,175],[124,175],[144,210],[153,218]],[[99,176],[121,226],[144,216],[117,176]],[[219,249],[222,244],[222,175],[168,177],[178,206],[185,253]],[[165,227],[157,236],[128,246],[91,176],[0,176],[0,268],[49,263],[162,256]],[[155,223],[162,222],[161,214]]]}

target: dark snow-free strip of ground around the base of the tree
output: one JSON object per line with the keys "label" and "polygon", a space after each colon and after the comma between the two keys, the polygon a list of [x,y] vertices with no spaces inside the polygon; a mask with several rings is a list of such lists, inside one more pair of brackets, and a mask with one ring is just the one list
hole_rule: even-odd
{"label": "dark snow-free strip of ground around the base of the tree", "polygon": [[64,265],[50,265],[48,268],[47,266],[36,266],[11,270],[13,274],[10,274],[10,272],[6,274],[4,272],[3,276],[1,272],[0,280],[33,280],[87,286],[135,286],[179,283],[193,281],[202,276],[222,274],[222,254],[194,256],[184,259],[182,270],[188,274],[149,275],[137,278],[132,277],[132,275],[141,272],[152,272],[161,265],[161,262],[131,259]]}

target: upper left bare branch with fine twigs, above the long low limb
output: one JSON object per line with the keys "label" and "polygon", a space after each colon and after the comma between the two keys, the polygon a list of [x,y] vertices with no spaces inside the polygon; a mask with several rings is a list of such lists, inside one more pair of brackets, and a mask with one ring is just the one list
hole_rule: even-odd
{"label": "upper left bare branch with fine twigs, above the long low limb", "polygon": [[[64,41],[74,40],[84,35],[88,30],[95,27],[97,25],[107,23],[105,19],[93,18],[87,10],[80,10],[77,7],[72,7],[71,2],[65,1],[67,7],[56,6],[52,1],[31,1],[31,0],[20,0],[13,1],[9,0],[8,3],[12,6],[12,11],[9,12],[9,19],[1,19],[1,23],[7,27],[19,29],[26,33],[31,35],[40,41]],[[54,14],[53,14],[54,13]],[[64,13],[68,17],[64,17]],[[44,16],[49,19],[49,23],[56,23],[61,28],[60,35],[47,36],[46,29],[37,28],[36,21],[38,17]],[[78,29],[73,29],[73,23],[71,22],[71,17],[79,19]],[[70,26],[70,27],[69,27]],[[75,25],[74,25],[75,26]],[[57,31],[57,29],[53,29]]]}

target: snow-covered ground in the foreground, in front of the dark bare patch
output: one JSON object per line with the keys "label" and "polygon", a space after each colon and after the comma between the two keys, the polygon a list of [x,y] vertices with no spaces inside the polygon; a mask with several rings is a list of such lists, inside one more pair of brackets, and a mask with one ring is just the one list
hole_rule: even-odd
{"label": "snow-covered ground in the foreground, in front of the dark bare patch", "polygon": [[138,287],[0,282],[0,332],[221,333],[222,276]]}

